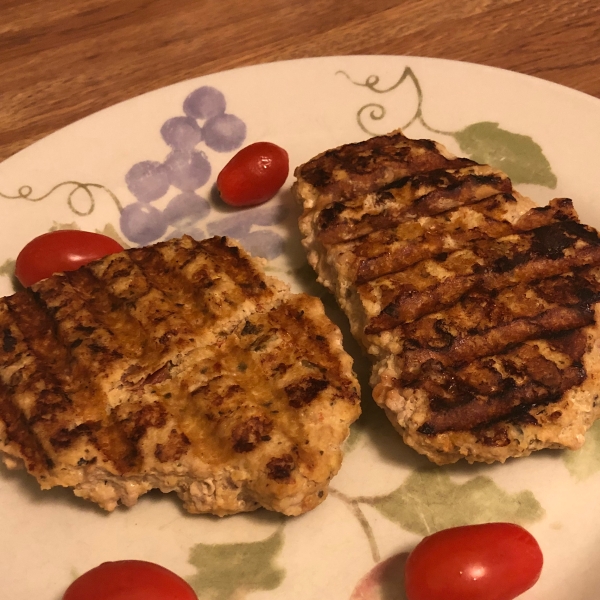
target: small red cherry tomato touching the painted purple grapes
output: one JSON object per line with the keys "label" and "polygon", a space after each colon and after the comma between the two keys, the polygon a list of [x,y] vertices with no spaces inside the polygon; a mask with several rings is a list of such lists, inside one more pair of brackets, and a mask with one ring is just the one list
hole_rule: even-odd
{"label": "small red cherry tomato touching the painted purple grapes", "polygon": [[217,177],[221,198],[231,206],[254,206],[270,200],[287,179],[287,152],[271,142],[242,148]]}

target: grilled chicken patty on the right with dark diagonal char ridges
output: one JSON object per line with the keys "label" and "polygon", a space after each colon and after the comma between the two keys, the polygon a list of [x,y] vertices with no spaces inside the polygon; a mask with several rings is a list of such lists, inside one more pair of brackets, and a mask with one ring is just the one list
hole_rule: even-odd
{"label": "grilled chicken patty on the right with dark diagonal char ridges", "polygon": [[571,200],[396,131],[296,170],[303,243],[373,361],[376,402],[438,464],[579,448],[597,417],[600,239]]}

